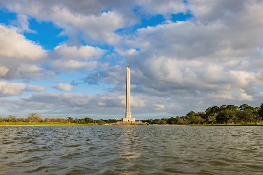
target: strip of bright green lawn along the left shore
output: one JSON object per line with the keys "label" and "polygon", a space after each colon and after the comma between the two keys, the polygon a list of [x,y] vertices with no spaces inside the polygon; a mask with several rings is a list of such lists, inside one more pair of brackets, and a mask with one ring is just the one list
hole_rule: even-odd
{"label": "strip of bright green lawn along the left shore", "polygon": [[[7,125],[34,125],[34,122],[0,122],[0,126]],[[76,124],[76,123],[59,123],[59,122],[36,122],[35,125],[94,125],[94,124]]]}

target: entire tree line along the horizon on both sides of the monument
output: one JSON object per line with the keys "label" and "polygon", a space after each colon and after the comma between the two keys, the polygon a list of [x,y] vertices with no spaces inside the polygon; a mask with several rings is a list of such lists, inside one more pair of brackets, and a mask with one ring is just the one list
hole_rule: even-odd
{"label": "entire tree line along the horizon on both sides of the monument", "polygon": [[[241,106],[235,105],[222,105],[220,107],[213,106],[207,108],[204,112],[190,111],[185,116],[177,116],[162,119],[148,119],[148,120],[136,120],[142,122],[148,122],[149,124],[227,124],[236,122],[257,122],[263,119],[263,103],[260,107],[251,107],[247,104]],[[94,123],[103,125],[106,123],[115,123],[120,120],[116,119],[99,119],[93,120],[92,118],[75,118],[68,116],[66,119],[63,118],[45,118],[42,120],[39,113],[30,113],[27,118],[16,118],[13,115],[8,115],[7,118],[0,116],[0,122],[61,122],[61,123],[77,123],[77,124],[88,124]]]}

